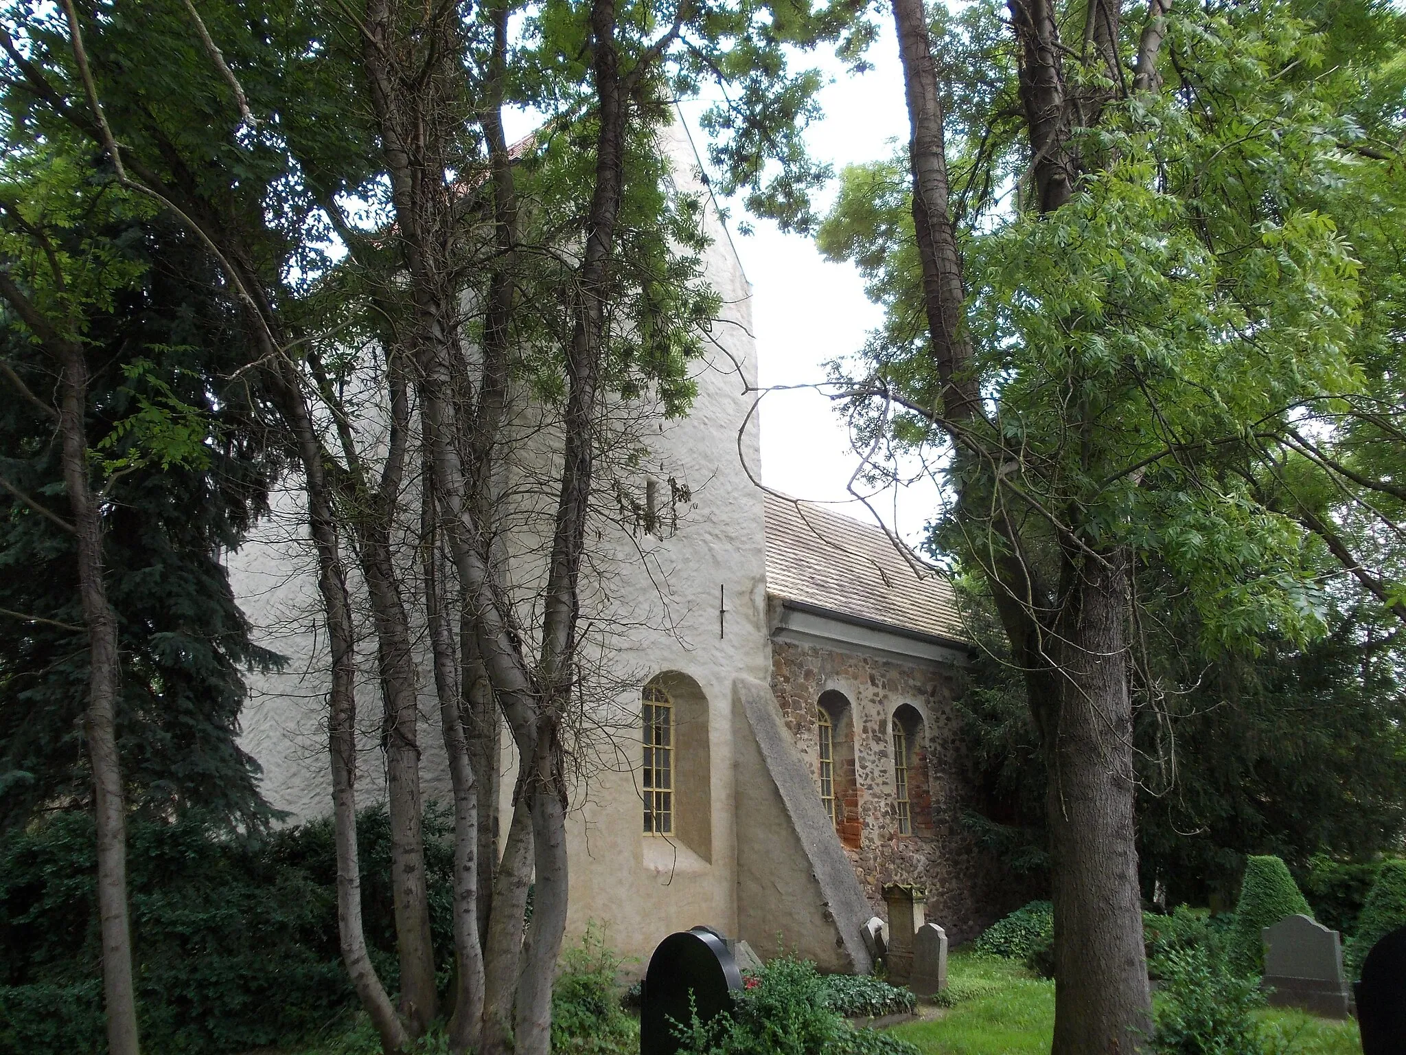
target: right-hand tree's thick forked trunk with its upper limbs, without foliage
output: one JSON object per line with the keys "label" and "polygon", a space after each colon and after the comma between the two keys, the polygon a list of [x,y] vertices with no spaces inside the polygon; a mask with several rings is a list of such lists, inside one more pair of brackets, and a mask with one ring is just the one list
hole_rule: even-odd
{"label": "right-hand tree's thick forked trunk with its upper limbs, without foliage", "polygon": [[[1159,0],[1153,0],[1154,4]],[[1021,48],[1019,86],[1042,212],[1073,193],[1077,159],[1070,125],[1062,45],[1053,0],[1010,0]],[[963,326],[960,255],[948,212],[948,173],[936,72],[921,0],[893,0],[904,63],[914,181],[914,221],[922,262],[932,354],[943,383],[934,418],[953,436],[957,454],[979,426],[973,387],[963,391],[970,357]],[[1163,7],[1156,8],[1159,13]],[[1088,44],[1116,66],[1116,14],[1091,4]],[[1116,70],[1115,70],[1116,72]],[[1000,449],[986,452],[1002,461]],[[1002,461],[1004,467],[1004,461]],[[981,482],[984,481],[984,482]],[[1077,556],[1081,578],[1063,589],[1054,633],[1049,605],[1019,530],[1002,512],[1000,473],[967,480],[963,515],[984,518],[980,532],[1001,543],[986,553],[1001,622],[1028,671],[1032,713],[1049,761],[1049,829],[1054,867],[1056,1025],[1053,1055],[1136,1049],[1150,1025],[1132,784],[1132,706],[1125,627],[1126,554],[1107,563]],[[995,499],[995,501],[993,501]],[[1056,644],[1060,643],[1060,644]]]}

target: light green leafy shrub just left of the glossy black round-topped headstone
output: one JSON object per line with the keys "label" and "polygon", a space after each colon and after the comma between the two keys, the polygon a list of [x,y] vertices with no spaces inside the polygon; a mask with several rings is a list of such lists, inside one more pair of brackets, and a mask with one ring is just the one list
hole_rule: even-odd
{"label": "light green leafy shrub just left of the glossy black round-topped headstone", "polygon": [[596,923],[586,924],[581,945],[568,950],[565,969],[551,989],[551,1049],[596,1055],[634,1051],[638,1025],[621,1009],[616,972],[624,962],[606,947]]}

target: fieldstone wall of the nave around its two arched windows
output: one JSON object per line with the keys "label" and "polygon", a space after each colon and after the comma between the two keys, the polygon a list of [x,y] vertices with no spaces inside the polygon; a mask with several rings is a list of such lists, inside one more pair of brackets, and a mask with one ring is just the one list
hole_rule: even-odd
{"label": "fieldstone wall of the nave around its two arched windows", "polygon": [[[845,852],[877,916],[887,916],[882,889],[914,883],[928,890],[928,919],[952,944],[970,941],[1031,897],[962,824],[974,788],[960,723],[952,706],[960,691],[957,668],[886,660],[838,648],[772,641],[772,692],[820,795],[817,703],[842,693],[851,708],[853,768],[837,767],[838,823]],[[834,701],[834,696],[827,698]],[[912,834],[898,834],[894,805],[894,712],[908,705],[922,717],[922,737],[910,758]],[[835,726],[837,737],[841,726]],[[838,746],[837,746],[838,751]],[[846,760],[848,761],[848,760]],[[856,837],[858,836],[858,837]],[[1038,896],[1038,895],[1036,895]]]}

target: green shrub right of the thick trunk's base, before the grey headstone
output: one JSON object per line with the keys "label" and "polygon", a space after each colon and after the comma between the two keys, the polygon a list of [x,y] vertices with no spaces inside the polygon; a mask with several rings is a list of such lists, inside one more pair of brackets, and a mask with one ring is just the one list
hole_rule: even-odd
{"label": "green shrub right of the thick trunk's base, before the grey headstone", "polygon": [[1201,948],[1170,952],[1152,1049],[1157,1055],[1260,1055],[1251,1011],[1264,999],[1253,979],[1236,978]]}

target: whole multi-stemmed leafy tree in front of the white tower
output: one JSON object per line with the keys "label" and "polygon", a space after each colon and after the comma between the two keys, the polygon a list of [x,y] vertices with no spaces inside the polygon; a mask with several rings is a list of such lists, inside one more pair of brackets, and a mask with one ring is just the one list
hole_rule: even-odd
{"label": "whole multi-stemmed leafy tree in front of the white tower", "polygon": [[[188,231],[252,345],[231,380],[267,408],[305,495],[330,647],[343,958],[387,1051],[440,1010],[409,627],[430,632],[454,784],[451,1047],[546,1052],[567,907],[564,730],[596,702],[579,650],[588,540],[613,505],[599,501],[602,457],[619,447],[621,408],[686,408],[716,311],[697,203],[669,188],[657,134],[675,93],[727,83],[735,101],[713,127],[728,186],[800,215],[823,174],[799,139],[818,79],[789,72],[787,46],[838,38],[853,11],[551,3],[512,38],[515,14],[382,0],[20,6],[7,38],[7,91],[30,127],[75,139],[115,190]],[[548,124],[510,152],[502,108],[524,103]],[[513,394],[544,422],[524,440],[508,428]],[[534,485],[554,506],[546,574],[526,596],[496,519],[515,443],[546,443]],[[408,523],[420,557],[409,564],[392,551]],[[398,1003],[360,923],[363,591],[384,705]],[[488,772],[499,716],[522,760],[502,858]],[[494,859],[477,859],[485,848]]]}

